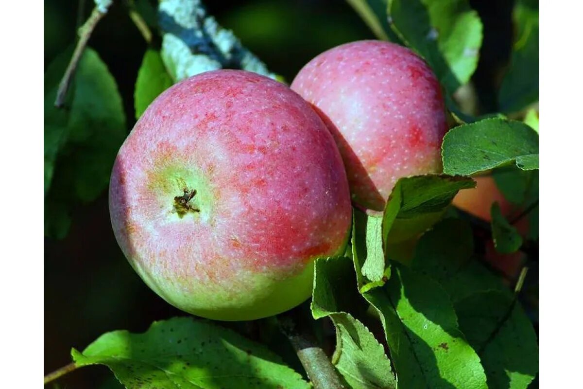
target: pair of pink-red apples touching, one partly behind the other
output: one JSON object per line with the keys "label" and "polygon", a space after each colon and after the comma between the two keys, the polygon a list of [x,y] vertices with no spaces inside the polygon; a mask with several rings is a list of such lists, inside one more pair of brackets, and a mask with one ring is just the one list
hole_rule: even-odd
{"label": "pair of pink-red apples touching, one partly behind the other", "polygon": [[440,173],[445,131],[436,76],[392,43],[326,51],[291,87],[205,72],[157,97],[122,145],[114,233],[181,310],[278,314],[310,296],[315,258],[345,252],[352,205],[382,212],[398,178]]}

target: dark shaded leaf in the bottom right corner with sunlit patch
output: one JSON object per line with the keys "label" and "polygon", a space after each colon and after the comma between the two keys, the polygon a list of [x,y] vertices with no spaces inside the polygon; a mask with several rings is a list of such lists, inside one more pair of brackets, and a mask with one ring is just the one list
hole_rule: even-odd
{"label": "dark shaded leaf in the bottom right corner with sunlit patch", "polygon": [[538,344],[520,304],[484,291],[455,304],[459,328],[479,350],[490,389],[526,389],[538,372]]}

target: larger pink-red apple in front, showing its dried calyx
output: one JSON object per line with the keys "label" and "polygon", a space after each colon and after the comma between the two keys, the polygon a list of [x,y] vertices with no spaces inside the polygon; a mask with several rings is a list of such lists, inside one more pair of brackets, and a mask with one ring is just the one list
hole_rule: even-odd
{"label": "larger pink-red apple in front, showing its dried calyx", "polygon": [[345,251],[352,217],[321,118],[282,83],[235,70],[194,76],[150,104],[115,160],[109,201],[146,284],[216,320],[304,302],[315,258]]}

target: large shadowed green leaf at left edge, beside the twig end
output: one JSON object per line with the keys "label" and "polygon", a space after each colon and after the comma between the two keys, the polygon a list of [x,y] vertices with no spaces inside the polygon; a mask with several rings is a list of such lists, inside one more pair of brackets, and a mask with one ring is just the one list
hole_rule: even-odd
{"label": "large shadowed green leaf at left edge, beside the twig end", "polygon": [[[115,80],[91,48],[79,61],[66,108],[54,107],[70,57],[68,50],[55,59],[44,83],[45,209],[65,213],[75,204],[93,201],[107,188],[115,155],[127,135]],[[64,237],[69,224],[65,219],[68,216],[45,212],[45,235]]]}

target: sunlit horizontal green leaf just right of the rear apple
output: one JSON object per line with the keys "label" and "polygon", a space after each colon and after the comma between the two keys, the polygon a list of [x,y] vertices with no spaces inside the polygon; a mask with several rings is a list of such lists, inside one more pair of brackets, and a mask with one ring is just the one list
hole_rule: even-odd
{"label": "sunlit horizontal green leaf just right of the rear apple", "polygon": [[450,129],[441,150],[444,173],[451,175],[469,176],[514,161],[523,170],[538,169],[539,136],[523,122],[485,119]]}

